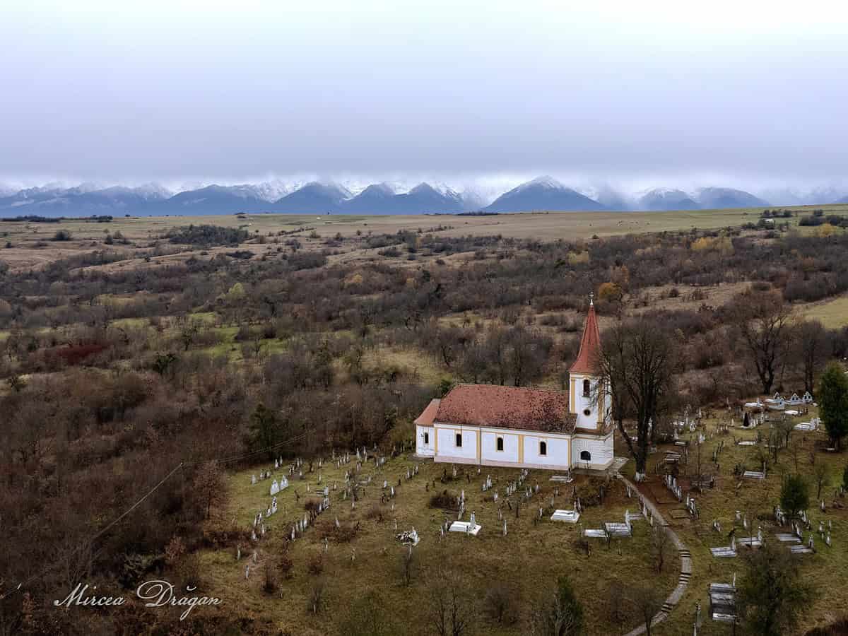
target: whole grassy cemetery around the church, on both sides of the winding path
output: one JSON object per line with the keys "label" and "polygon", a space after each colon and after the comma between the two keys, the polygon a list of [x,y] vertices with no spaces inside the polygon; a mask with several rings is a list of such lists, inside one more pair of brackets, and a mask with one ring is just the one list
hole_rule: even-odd
{"label": "whole grassy cemetery around the church, on both sides of the winding path", "polygon": [[[743,426],[733,407],[692,418],[695,426],[675,427],[676,435],[657,445],[640,483],[632,461],[620,469],[625,481],[614,471],[439,464],[402,444],[311,462],[275,458],[232,474],[224,516],[250,531],[235,549],[205,550],[202,562],[216,587],[261,620],[298,633],[330,629],[333,607],[352,588],[379,589],[393,611],[428,633],[421,600],[439,567],[450,564],[471,595],[482,598],[497,580],[523,602],[538,594],[540,582],[568,572],[580,582],[589,633],[598,634],[639,627],[635,615],[614,626],[605,598],[614,583],[650,577],[664,598],[678,595],[663,605],[659,633],[693,633],[700,624],[696,633],[725,634],[746,556],[771,543],[803,560],[804,577],[822,582],[815,624],[842,600],[825,582],[848,561],[848,499],[841,462],[824,452],[820,429],[797,427],[801,417],[816,421],[814,407],[803,416],[765,410],[756,426]],[[785,439],[787,430],[788,445],[772,434]],[[624,449],[616,447],[616,455]],[[811,471],[811,457],[827,467],[821,497],[811,483],[807,510],[789,518],[779,505],[781,475],[795,461]],[[657,573],[651,532],[661,524],[683,548],[671,550]],[[269,594],[265,567],[276,568],[282,555],[292,566],[276,573]],[[397,574],[402,561],[411,564],[404,577]],[[304,611],[319,580],[326,611]],[[515,628],[487,623],[487,633]]]}

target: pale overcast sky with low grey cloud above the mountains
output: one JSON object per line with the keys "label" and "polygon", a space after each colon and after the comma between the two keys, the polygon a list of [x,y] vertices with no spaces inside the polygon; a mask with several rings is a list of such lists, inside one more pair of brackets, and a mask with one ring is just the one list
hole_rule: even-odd
{"label": "pale overcast sky with low grey cloud above the mountains", "polygon": [[845,181],[845,3],[571,4],[4,0],[0,181]]}

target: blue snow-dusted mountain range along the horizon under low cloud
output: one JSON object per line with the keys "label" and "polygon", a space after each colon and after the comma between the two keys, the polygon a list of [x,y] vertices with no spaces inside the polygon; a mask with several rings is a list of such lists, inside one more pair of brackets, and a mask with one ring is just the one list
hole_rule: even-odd
{"label": "blue snow-dusted mountain range along the horizon under low cloud", "polygon": [[550,176],[522,183],[487,202],[472,191],[420,183],[399,192],[388,183],[371,184],[359,192],[337,183],[310,181],[288,187],[279,182],[210,185],[170,192],[156,184],[100,188],[48,184],[15,192],[0,186],[0,217],[91,215],[226,215],[245,213],[413,215],[594,210],[688,210],[749,208],[775,205],[848,202],[846,192],[832,188],[807,195],[773,191],[768,200],[728,187],[702,187],[695,192],[657,187],[628,195],[611,187],[578,192]]}

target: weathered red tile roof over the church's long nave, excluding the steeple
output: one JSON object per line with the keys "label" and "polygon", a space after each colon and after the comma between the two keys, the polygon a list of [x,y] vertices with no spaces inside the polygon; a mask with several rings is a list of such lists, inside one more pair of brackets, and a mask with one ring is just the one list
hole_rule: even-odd
{"label": "weathered red tile roof over the church's long nave, excluding the steeple", "polygon": [[438,404],[435,420],[466,426],[571,432],[575,416],[568,413],[568,394],[561,391],[458,384]]}

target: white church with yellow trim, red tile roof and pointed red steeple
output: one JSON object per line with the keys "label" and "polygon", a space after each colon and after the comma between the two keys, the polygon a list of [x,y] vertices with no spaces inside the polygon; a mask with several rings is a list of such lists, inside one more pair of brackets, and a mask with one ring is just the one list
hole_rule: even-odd
{"label": "white church with yellow trim, red tile roof and pointed red steeple", "polygon": [[592,368],[599,349],[590,300],[568,391],[457,384],[416,418],[416,454],[479,466],[608,468],[614,459],[610,395]]}

